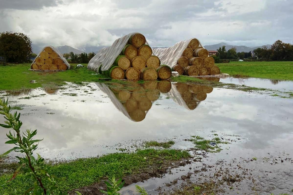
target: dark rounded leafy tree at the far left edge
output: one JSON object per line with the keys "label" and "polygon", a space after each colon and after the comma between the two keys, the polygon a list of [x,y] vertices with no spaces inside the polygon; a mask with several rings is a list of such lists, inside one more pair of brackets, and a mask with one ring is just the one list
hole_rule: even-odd
{"label": "dark rounded leafy tree at the far left edge", "polygon": [[28,61],[31,53],[32,41],[27,35],[11,31],[0,33],[0,55],[4,55],[7,62]]}

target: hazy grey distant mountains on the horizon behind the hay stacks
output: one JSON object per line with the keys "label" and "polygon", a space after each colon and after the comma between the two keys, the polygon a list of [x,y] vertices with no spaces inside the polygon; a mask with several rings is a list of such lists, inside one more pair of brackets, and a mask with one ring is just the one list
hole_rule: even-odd
{"label": "hazy grey distant mountains on the horizon behind the hay stacks", "polygon": [[[236,47],[236,52],[252,52],[254,49],[257,49],[258,47],[246,47],[244,45],[228,45],[227,43],[218,43],[218,44],[215,44],[215,45],[204,45],[204,47],[207,49],[207,50],[214,50],[216,51],[217,49],[219,49],[219,47],[222,47],[222,46],[226,46],[226,50],[228,51],[229,49],[231,49],[232,47]],[[57,49],[59,50],[60,53],[62,54],[65,54],[65,53],[69,53],[69,52],[73,52],[74,54],[81,54],[83,52],[86,52],[86,53],[90,53],[90,52],[95,52],[97,53],[100,49],[102,49],[103,47],[107,47],[107,46],[86,46],[83,48],[83,50],[80,50],[80,49],[76,49],[76,48],[73,48],[71,46],[68,46],[68,45],[63,45],[63,46],[57,46]],[[259,46],[259,47],[262,47],[262,46]],[[154,48],[157,48],[157,47],[154,47]],[[40,47],[36,46],[36,45],[33,45],[33,52],[34,53],[39,53],[40,52]]]}

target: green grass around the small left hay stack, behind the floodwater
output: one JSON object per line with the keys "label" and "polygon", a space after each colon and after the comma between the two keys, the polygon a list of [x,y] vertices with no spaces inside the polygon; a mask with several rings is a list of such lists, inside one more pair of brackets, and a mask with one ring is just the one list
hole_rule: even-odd
{"label": "green grass around the small left hay stack, behind the floodwater", "polygon": [[[21,88],[37,88],[45,86],[64,85],[66,82],[97,82],[98,78],[105,78],[85,67],[76,68],[76,64],[71,64],[71,69],[67,71],[45,72],[29,71],[30,64],[0,65],[0,90],[18,90]],[[36,83],[30,83],[35,80]]]}

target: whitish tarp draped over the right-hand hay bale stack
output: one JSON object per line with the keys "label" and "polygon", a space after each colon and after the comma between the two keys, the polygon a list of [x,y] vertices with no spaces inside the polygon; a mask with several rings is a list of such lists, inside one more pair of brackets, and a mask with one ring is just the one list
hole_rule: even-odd
{"label": "whitish tarp draped over the right-hand hay bale stack", "polygon": [[[167,48],[153,48],[153,53],[161,60],[161,64],[166,64],[171,68],[177,64],[177,60],[182,56],[184,49],[188,47],[189,42],[195,38],[179,41],[175,45]],[[200,47],[204,48],[200,43]]]}

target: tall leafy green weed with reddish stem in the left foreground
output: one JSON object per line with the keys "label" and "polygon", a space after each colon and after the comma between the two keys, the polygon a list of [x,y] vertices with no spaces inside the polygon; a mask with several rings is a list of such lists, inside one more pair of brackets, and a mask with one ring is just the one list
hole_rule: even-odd
{"label": "tall leafy green weed with reddish stem in the left foreground", "polygon": [[[8,106],[8,98],[0,99],[0,114],[4,115],[6,121],[5,124],[0,124],[1,127],[7,129],[13,129],[13,133],[9,131],[9,134],[6,134],[8,137],[8,141],[6,144],[14,144],[15,147],[11,148],[1,156],[8,155],[12,151],[16,153],[23,153],[23,156],[17,156],[19,162],[19,167],[14,172],[11,179],[6,181],[6,183],[10,182],[11,180],[15,179],[16,176],[20,171],[22,171],[25,175],[25,178],[28,179],[28,182],[25,189],[25,194],[59,194],[56,190],[56,182],[54,177],[49,175],[49,167],[45,164],[44,158],[38,155],[36,159],[33,156],[33,152],[38,148],[38,143],[42,140],[34,140],[33,137],[37,134],[37,130],[31,131],[26,129],[21,136],[20,128],[22,122],[19,120],[20,113],[14,112],[11,114],[12,108],[10,105]],[[5,185],[5,184],[4,184]],[[15,193],[16,194],[16,190]]]}

